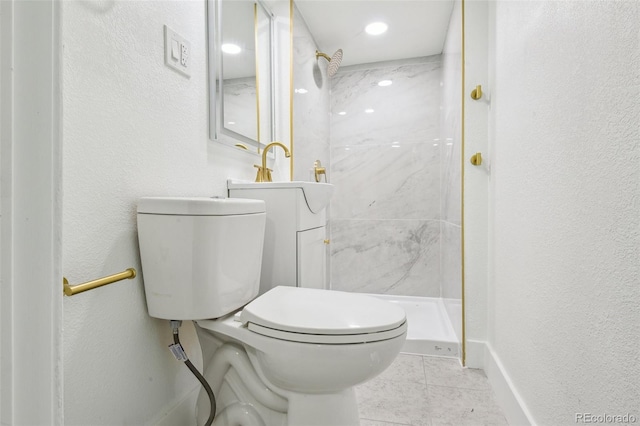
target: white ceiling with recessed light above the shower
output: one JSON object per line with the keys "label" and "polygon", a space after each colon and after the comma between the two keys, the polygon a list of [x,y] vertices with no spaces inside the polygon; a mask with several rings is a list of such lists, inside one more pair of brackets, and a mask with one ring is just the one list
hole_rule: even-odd
{"label": "white ceiling with recessed light above the shower", "polygon": [[[341,66],[442,53],[453,0],[296,0],[321,51],[342,49]],[[383,21],[386,33],[364,27]]]}

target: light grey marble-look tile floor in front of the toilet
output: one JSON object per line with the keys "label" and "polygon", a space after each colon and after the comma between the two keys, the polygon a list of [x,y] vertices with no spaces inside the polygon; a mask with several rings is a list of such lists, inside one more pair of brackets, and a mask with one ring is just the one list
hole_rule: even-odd
{"label": "light grey marble-look tile floor in front of the toilet", "polygon": [[456,359],[400,354],[356,397],[361,426],[508,425],[484,372]]}

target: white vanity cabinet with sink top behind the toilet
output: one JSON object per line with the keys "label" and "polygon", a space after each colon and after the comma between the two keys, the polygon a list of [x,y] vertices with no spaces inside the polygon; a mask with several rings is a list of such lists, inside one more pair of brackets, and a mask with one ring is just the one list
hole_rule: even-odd
{"label": "white vanity cabinet with sink top behind the toilet", "polygon": [[333,185],[228,180],[230,198],[266,203],[261,291],[277,285],[328,288],[327,206]]}

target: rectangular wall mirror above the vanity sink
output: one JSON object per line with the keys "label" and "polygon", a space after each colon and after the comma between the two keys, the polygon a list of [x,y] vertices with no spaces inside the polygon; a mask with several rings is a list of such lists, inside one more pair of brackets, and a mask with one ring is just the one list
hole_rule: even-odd
{"label": "rectangular wall mirror above the vanity sink", "polygon": [[250,152],[275,140],[273,15],[260,1],[207,0],[209,138]]}

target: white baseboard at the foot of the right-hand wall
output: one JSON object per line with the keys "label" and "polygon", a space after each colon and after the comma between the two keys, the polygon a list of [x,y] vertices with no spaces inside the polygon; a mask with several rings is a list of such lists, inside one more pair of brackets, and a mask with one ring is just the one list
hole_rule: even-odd
{"label": "white baseboard at the foot of the right-hand wall", "polygon": [[491,345],[483,341],[468,340],[466,355],[467,367],[484,370],[507,422],[512,426],[535,426],[533,416]]}

